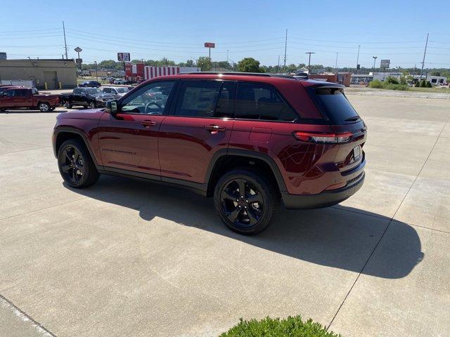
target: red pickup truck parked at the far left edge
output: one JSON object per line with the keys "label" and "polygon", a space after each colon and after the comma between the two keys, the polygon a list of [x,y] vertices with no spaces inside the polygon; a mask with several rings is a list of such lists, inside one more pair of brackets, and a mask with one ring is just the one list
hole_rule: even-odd
{"label": "red pickup truck parked at the far left edge", "polygon": [[0,93],[0,111],[27,107],[49,112],[59,105],[59,95],[41,95],[36,88],[9,88]]}

